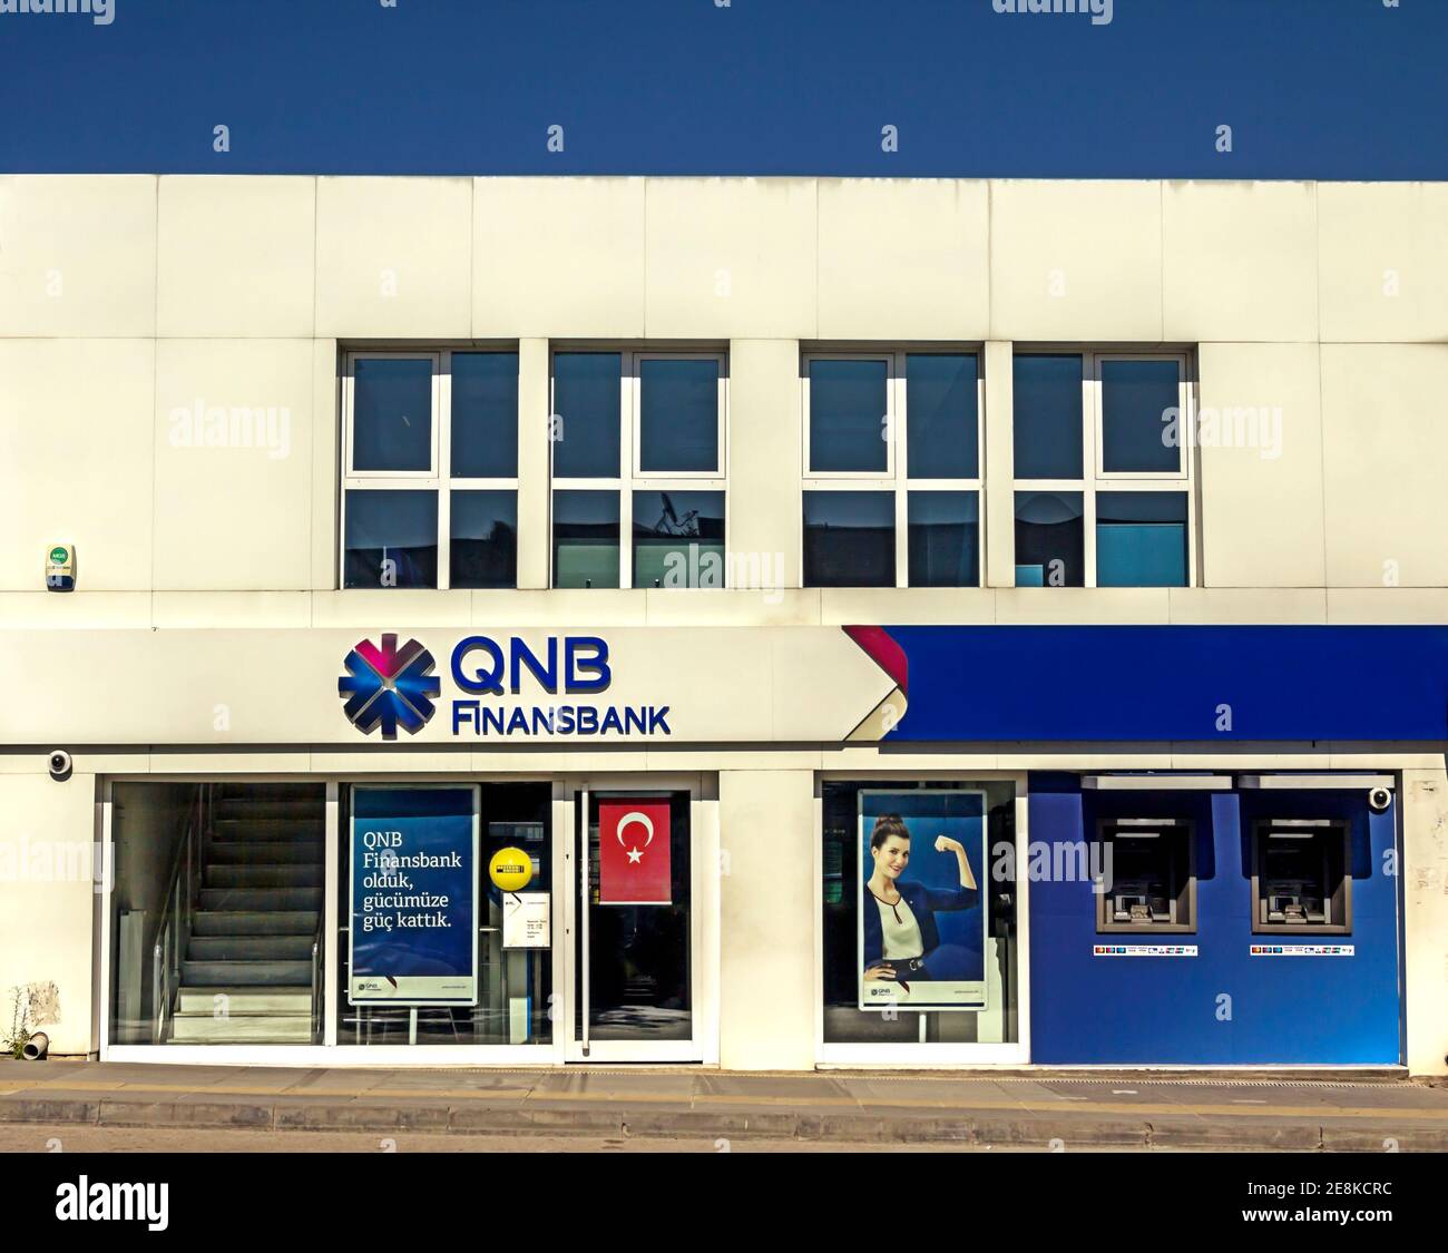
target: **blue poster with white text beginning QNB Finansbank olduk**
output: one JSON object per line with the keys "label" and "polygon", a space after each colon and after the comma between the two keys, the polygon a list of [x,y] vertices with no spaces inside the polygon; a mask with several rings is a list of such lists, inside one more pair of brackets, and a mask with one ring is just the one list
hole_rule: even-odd
{"label": "blue poster with white text beginning QNB Finansbank olduk", "polygon": [[352,792],[352,1005],[478,1002],[478,789]]}

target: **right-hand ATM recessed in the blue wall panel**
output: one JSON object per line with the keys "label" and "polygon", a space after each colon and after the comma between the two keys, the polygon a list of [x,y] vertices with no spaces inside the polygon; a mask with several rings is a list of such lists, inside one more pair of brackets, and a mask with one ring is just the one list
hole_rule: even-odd
{"label": "right-hand ATM recessed in the blue wall panel", "polygon": [[1253,931],[1352,931],[1350,827],[1332,818],[1253,824]]}

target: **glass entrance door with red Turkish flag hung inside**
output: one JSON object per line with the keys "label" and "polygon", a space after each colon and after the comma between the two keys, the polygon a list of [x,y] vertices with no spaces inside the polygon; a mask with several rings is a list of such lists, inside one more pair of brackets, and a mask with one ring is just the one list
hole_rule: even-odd
{"label": "glass entrance door with red Turkish flag hung inside", "polygon": [[571,1062],[702,1060],[691,800],[573,795]]}

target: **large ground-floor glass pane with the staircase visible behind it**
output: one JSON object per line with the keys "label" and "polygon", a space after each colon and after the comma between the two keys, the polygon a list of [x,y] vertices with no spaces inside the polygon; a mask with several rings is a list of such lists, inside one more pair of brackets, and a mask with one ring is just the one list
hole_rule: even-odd
{"label": "large ground-floor glass pane with the staircase visible behind it", "polygon": [[320,1044],[324,785],[117,781],[111,810],[106,1044]]}

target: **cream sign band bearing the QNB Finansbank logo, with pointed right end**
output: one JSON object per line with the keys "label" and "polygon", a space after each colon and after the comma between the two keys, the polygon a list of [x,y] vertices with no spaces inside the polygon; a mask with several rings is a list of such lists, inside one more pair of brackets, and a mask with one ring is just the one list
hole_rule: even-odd
{"label": "cream sign band bearing the QNB Finansbank logo, with pointed right end", "polygon": [[877,739],[905,682],[837,626],[0,630],[0,742],[38,750]]}

